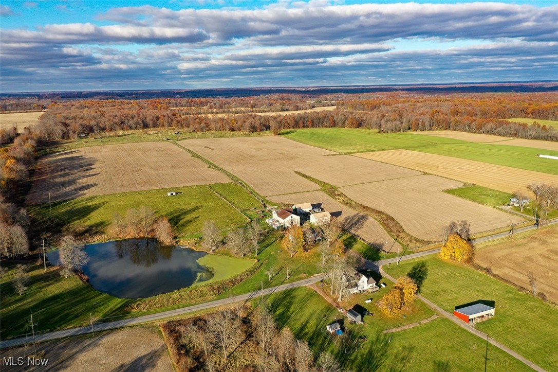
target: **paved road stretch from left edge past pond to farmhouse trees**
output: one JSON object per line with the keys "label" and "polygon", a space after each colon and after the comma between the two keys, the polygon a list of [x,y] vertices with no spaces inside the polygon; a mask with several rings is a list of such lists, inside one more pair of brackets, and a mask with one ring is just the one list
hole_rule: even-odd
{"label": "paved road stretch from left edge past pond to farmhouse trees", "polygon": [[[220,299],[220,300],[217,300],[217,301],[206,302],[206,303],[202,303],[202,304],[198,304],[198,305],[194,305],[194,306],[189,306],[189,307],[184,307],[184,308],[180,308],[180,309],[169,310],[169,311],[165,311],[165,312],[161,312],[161,313],[144,315],[144,316],[140,316],[140,317],[136,317],[136,318],[122,319],[120,321],[115,321],[115,322],[93,323],[93,328],[97,332],[108,331],[108,330],[113,330],[115,328],[132,326],[132,325],[137,325],[137,324],[140,324],[140,323],[158,321],[158,320],[161,320],[161,319],[175,317],[175,316],[179,316],[179,315],[182,315],[182,314],[187,314],[187,313],[191,313],[191,312],[195,312],[195,311],[209,309],[209,308],[212,308],[212,307],[223,306],[223,305],[227,305],[227,304],[234,303],[234,302],[247,301],[249,299],[256,298],[256,297],[259,297],[259,296],[262,296],[262,295],[268,295],[268,294],[272,294],[272,293],[276,293],[276,292],[281,292],[282,290],[286,290],[286,289],[290,289],[290,288],[296,288],[296,287],[302,287],[304,285],[309,285],[309,284],[318,282],[318,280],[323,279],[324,276],[325,276],[324,274],[314,275],[311,278],[299,280],[298,282],[282,284],[282,285],[278,285],[277,287],[264,288],[263,290],[257,290],[255,292],[251,292],[251,293],[241,294],[241,295],[234,296],[234,297],[224,298],[224,299]],[[40,341],[56,340],[58,338],[69,337],[69,336],[85,335],[86,333],[92,333],[91,326],[70,328],[68,330],[44,333],[42,335],[36,335],[35,338],[36,338],[37,342],[40,342]],[[33,342],[33,338],[31,336],[20,337],[20,338],[12,338],[11,340],[0,341],[0,349],[6,348],[6,347],[25,345],[25,344],[28,344],[30,342]]]}

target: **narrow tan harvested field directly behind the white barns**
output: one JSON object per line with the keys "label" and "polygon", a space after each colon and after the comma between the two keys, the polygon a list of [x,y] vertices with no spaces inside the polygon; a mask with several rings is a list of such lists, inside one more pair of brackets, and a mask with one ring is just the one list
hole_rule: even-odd
{"label": "narrow tan harvested field directly behind the white barns", "polygon": [[368,217],[365,214],[359,213],[352,208],[336,202],[321,191],[277,195],[271,197],[271,200],[288,205],[311,203],[313,206],[324,208],[333,216],[347,223],[346,226],[348,230],[370,246],[383,250],[388,250],[390,247],[392,247],[392,249],[401,247],[399,244],[395,243],[393,238],[389,236],[374,218]]}

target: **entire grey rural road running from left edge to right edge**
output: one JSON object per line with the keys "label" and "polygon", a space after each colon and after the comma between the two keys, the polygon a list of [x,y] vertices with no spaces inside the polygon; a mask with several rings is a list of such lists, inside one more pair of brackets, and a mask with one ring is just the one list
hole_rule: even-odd
{"label": "entire grey rural road running from left edge to right edge", "polygon": [[[553,221],[547,222],[547,225],[554,224],[554,223],[558,223],[558,220],[553,220]],[[536,229],[535,226],[527,226],[527,227],[518,228],[515,231],[515,233],[520,233],[520,232],[525,232],[525,231],[530,231],[530,230],[535,230],[535,229]],[[500,239],[501,237],[506,237],[506,236],[508,236],[508,232],[502,232],[502,233],[497,233],[497,234],[490,235],[490,236],[485,236],[485,237],[482,237],[480,239],[475,239],[473,242],[474,243],[480,243],[480,242]],[[429,250],[429,251],[408,254],[408,255],[400,257],[400,261],[412,260],[412,259],[415,259],[415,258],[436,254],[438,252],[440,252],[440,249],[433,249],[433,250]],[[381,268],[382,265],[396,263],[396,262],[397,262],[397,258],[380,260],[380,261],[376,261],[376,262],[366,261],[365,262],[365,267],[367,269],[372,269],[372,270],[376,270],[376,271],[380,272],[380,270],[381,270],[380,268]],[[175,316],[179,316],[179,315],[182,315],[182,314],[187,314],[187,313],[191,313],[191,312],[195,312],[195,311],[209,309],[209,308],[212,308],[212,307],[223,306],[223,305],[227,305],[227,304],[234,303],[234,302],[246,301],[246,300],[251,299],[251,298],[259,297],[259,296],[262,296],[262,295],[268,295],[268,294],[272,294],[272,293],[275,293],[275,292],[280,292],[282,290],[286,290],[286,289],[290,289],[290,288],[303,287],[304,285],[310,285],[310,284],[313,284],[315,282],[318,282],[318,280],[323,279],[324,276],[325,276],[324,274],[319,274],[319,275],[312,276],[311,278],[299,280],[298,282],[281,284],[281,285],[278,285],[277,287],[265,288],[263,290],[257,290],[255,292],[251,292],[251,293],[241,294],[241,295],[237,295],[237,296],[234,296],[234,297],[219,299],[219,300],[216,300],[216,301],[201,303],[201,304],[197,304],[197,305],[194,305],[194,306],[169,310],[169,311],[165,311],[165,312],[161,312],[161,313],[144,315],[144,316],[140,316],[140,317],[136,317],[136,318],[122,319],[121,321],[114,321],[114,322],[107,322],[107,323],[96,323],[96,324],[94,323],[93,328],[94,328],[94,331],[98,331],[98,332],[108,331],[108,330],[113,330],[113,329],[116,329],[116,328],[132,326],[132,325],[137,325],[137,324],[140,324],[140,323],[146,323],[146,322],[157,321],[157,320],[161,320],[161,319],[165,319],[165,318],[175,317]],[[387,277],[390,278],[389,276],[387,276]],[[423,299],[423,301],[425,301],[427,304],[429,303],[429,301],[427,301],[426,299]],[[443,310],[441,310],[441,311],[443,312]],[[36,335],[35,340],[37,342],[49,341],[49,340],[56,340],[56,339],[63,338],[63,337],[85,335],[86,333],[92,333],[91,326],[69,328],[68,330],[42,333],[40,335]],[[3,340],[3,341],[0,341],[0,349],[6,348],[6,347],[25,345],[25,344],[30,343],[32,341],[33,341],[33,338],[31,336],[12,338],[11,340]],[[494,342],[496,342],[496,341],[494,341]],[[496,345],[496,344],[494,344],[494,345]],[[498,345],[496,345],[496,346],[498,346]],[[502,349],[502,350],[504,350],[504,349]],[[504,350],[504,351],[508,352],[507,350]],[[508,352],[508,354],[509,354],[509,352]]]}

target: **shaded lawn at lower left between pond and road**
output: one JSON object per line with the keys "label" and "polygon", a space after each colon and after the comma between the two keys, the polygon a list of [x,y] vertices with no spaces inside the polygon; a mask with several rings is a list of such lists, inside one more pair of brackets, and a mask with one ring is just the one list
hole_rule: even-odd
{"label": "shaded lawn at lower left between pond and road", "polygon": [[94,318],[121,314],[127,299],[98,292],[76,276],[64,279],[59,270],[50,267],[45,272],[42,265],[28,266],[30,279],[27,292],[15,293],[11,280],[15,265],[9,266],[0,279],[2,338],[25,336],[27,322],[33,314],[36,330],[49,331],[69,326],[89,324],[89,314]]}

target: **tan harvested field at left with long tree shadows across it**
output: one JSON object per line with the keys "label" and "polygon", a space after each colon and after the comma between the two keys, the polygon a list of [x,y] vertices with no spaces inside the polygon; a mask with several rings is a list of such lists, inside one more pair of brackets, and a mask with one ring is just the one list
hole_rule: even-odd
{"label": "tan harvested field at left with long tree shadows across it", "polygon": [[84,147],[41,158],[27,204],[180,186],[226,183],[218,170],[169,142]]}

